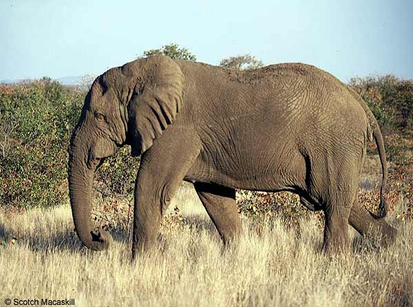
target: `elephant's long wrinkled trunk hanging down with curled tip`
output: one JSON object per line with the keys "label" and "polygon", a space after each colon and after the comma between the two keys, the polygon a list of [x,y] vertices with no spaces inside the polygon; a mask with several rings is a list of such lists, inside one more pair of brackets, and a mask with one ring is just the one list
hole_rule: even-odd
{"label": "elephant's long wrinkled trunk hanging down with curled tip", "polygon": [[92,182],[96,167],[87,167],[87,153],[83,138],[72,137],[69,149],[69,195],[74,226],[79,239],[88,248],[100,251],[109,247],[112,236],[106,231],[92,231]]}

